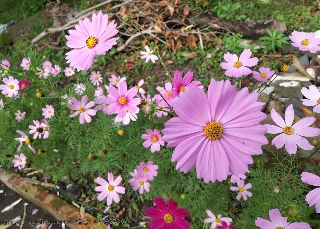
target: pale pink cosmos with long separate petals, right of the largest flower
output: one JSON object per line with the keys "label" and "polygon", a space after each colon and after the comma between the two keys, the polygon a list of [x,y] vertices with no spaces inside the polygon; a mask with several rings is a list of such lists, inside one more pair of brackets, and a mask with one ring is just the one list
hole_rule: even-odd
{"label": "pale pink cosmos with long separate petals, right of the largest flower", "polygon": [[[292,125],[294,119],[294,111],[292,104],[290,104],[284,113],[283,118],[275,111],[271,110],[271,118],[278,125],[265,124],[268,128],[267,133],[280,135],[276,136],[271,144],[275,145],[277,149],[285,146],[285,149],[289,154],[295,154],[297,152],[297,145],[304,150],[311,150],[314,147],[303,137],[316,137],[320,135],[320,129],[314,127],[308,127],[316,120],[315,117],[306,117],[300,119],[298,122]],[[303,136],[303,137],[301,137]]]}

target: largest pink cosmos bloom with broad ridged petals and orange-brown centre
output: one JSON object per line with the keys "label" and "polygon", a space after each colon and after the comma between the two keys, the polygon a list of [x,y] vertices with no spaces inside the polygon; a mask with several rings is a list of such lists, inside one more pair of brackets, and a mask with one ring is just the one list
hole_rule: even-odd
{"label": "largest pink cosmos bloom with broad ridged petals and orange-brown centre", "polygon": [[228,80],[212,79],[208,96],[200,88],[187,88],[173,103],[179,117],[162,130],[167,147],[176,147],[171,159],[176,169],[187,173],[196,165],[198,179],[206,183],[225,180],[229,172],[249,172],[251,155],[262,154],[261,146],[268,143],[267,128],[260,125],[267,115],[258,96],[248,88],[236,91]]}

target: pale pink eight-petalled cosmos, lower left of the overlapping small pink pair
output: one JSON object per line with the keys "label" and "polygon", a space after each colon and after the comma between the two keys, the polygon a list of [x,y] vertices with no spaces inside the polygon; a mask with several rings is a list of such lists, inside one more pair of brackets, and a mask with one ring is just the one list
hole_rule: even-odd
{"label": "pale pink eight-petalled cosmos, lower left of the overlapping small pink pair", "polygon": [[97,186],[94,188],[94,191],[101,192],[99,196],[97,197],[99,201],[102,201],[103,199],[107,198],[107,205],[110,206],[112,203],[112,199],[116,202],[120,202],[120,197],[118,193],[124,194],[125,188],[119,186],[119,184],[122,181],[122,177],[118,176],[116,180],[114,180],[113,174],[108,173],[108,182],[101,178],[97,177],[96,179],[97,183],[100,184],[100,186]]}

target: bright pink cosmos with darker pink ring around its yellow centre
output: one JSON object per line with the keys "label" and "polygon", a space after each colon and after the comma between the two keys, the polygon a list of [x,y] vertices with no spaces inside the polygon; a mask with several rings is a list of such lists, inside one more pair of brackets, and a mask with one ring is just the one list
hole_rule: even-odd
{"label": "bright pink cosmos with darker pink ring around its yellow centre", "polygon": [[126,82],[119,83],[118,90],[110,86],[108,97],[105,98],[105,102],[109,104],[109,114],[118,113],[119,118],[125,116],[126,111],[134,113],[137,110],[137,105],[141,103],[140,98],[133,98],[137,95],[138,90],[136,87],[131,88],[128,91]]}

